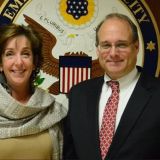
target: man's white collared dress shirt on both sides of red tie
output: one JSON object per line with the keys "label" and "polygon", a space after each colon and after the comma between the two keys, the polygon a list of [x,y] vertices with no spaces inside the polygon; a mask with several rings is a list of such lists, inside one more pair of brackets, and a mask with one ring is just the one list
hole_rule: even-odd
{"label": "man's white collared dress shirt on both sides of red tie", "polygon": [[[117,129],[121,116],[135,88],[135,85],[138,81],[139,76],[140,74],[138,73],[137,69],[134,68],[129,74],[117,80],[120,84],[120,95],[119,95],[119,103],[118,103],[118,109],[117,109],[117,115],[116,115],[115,130]],[[111,79],[105,74],[104,84],[102,86],[102,92],[101,92],[100,101],[99,101],[99,130],[101,128],[103,112],[104,112],[107,100],[110,97],[112,92],[111,87],[109,87],[106,84],[106,82],[110,80]]]}

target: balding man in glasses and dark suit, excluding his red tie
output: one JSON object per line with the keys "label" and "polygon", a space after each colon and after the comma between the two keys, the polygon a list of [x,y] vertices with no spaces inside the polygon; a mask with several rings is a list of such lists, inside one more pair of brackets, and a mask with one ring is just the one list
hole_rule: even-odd
{"label": "balding man in glasses and dark suit, excluding his red tie", "polygon": [[[123,14],[109,14],[97,27],[96,46],[105,74],[70,91],[64,159],[160,159],[160,81],[136,67],[136,26]],[[112,92],[106,84],[110,80],[119,84],[118,108],[111,143],[102,154],[101,128]]]}

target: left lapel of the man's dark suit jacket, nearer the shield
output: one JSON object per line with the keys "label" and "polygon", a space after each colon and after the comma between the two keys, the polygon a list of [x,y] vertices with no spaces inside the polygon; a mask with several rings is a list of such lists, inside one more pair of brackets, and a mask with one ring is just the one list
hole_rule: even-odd
{"label": "left lapel of the man's dark suit jacket, nearer the shield", "polygon": [[88,132],[90,132],[91,144],[94,150],[95,157],[100,159],[100,150],[99,150],[99,119],[98,119],[98,106],[99,106],[99,97],[102,89],[104,79],[103,77],[99,78],[92,86],[90,93],[88,93],[87,101],[87,126]]}

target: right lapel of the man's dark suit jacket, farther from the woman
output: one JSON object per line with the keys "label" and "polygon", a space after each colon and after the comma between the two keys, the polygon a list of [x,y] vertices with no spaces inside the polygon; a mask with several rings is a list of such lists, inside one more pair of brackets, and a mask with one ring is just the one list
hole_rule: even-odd
{"label": "right lapel of the man's dark suit jacket, farther from the woman", "polygon": [[107,157],[116,156],[121,146],[125,143],[125,140],[129,136],[132,128],[136,124],[136,121],[139,118],[140,114],[143,112],[147,101],[151,97],[151,93],[147,90],[148,86],[144,87],[143,83],[144,81],[141,77],[121,117]]}

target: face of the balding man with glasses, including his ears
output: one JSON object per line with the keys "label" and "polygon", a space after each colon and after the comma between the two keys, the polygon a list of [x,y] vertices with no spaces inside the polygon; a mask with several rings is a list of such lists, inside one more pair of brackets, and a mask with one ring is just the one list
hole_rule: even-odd
{"label": "face of the balding man with glasses, including his ears", "polygon": [[129,24],[118,18],[106,20],[99,32],[97,55],[111,79],[128,74],[136,65],[139,42],[133,42]]}

